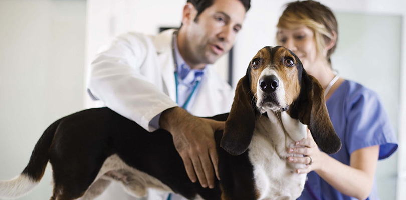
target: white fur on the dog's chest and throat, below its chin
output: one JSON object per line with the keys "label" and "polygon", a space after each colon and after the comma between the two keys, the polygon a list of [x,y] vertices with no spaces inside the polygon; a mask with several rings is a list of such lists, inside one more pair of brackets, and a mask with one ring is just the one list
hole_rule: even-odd
{"label": "white fur on the dog's chest and throat, below its chin", "polygon": [[248,153],[259,199],[296,199],[303,191],[306,174],[295,171],[305,166],[289,163],[287,158],[293,154],[287,149],[306,137],[306,126],[286,112],[267,114],[268,117],[259,116],[256,121]]}

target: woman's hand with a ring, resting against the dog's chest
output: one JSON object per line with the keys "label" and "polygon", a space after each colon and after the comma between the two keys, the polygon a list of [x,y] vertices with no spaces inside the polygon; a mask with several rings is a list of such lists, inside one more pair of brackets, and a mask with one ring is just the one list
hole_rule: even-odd
{"label": "woman's hand with a ring, resting against the dog's chest", "polygon": [[319,150],[309,129],[307,138],[297,141],[294,148],[288,148],[288,153],[298,154],[298,157],[288,157],[288,162],[306,164],[306,168],[296,169],[296,173],[318,170],[323,163],[323,152]]}

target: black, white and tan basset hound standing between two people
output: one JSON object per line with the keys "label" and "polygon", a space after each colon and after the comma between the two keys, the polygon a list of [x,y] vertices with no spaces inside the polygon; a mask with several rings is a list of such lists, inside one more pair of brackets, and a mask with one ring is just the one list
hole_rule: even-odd
{"label": "black, white and tan basset hound standing between two people", "polygon": [[187,199],[296,199],[306,174],[295,173],[287,148],[306,137],[307,127],[324,152],[341,148],[322,87],[283,47],[261,49],[237,85],[230,114],[210,118],[226,121],[224,132],[215,133],[221,181],[214,189],[189,180],[169,132],[150,133],[109,108],[95,108],[49,126],[23,172],[0,181],[0,198],[27,194],[49,161],[52,200],[93,199],[111,181],[136,197],[156,188]]}

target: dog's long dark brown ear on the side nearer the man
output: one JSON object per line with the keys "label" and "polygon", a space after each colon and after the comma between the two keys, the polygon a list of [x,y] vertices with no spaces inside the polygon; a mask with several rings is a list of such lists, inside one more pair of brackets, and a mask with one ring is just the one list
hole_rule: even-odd
{"label": "dog's long dark brown ear on the side nearer the man", "polygon": [[248,149],[255,127],[255,112],[251,105],[250,81],[247,76],[248,71],[237,84],[220,143],[220,146],[232,155],[243,154]]}

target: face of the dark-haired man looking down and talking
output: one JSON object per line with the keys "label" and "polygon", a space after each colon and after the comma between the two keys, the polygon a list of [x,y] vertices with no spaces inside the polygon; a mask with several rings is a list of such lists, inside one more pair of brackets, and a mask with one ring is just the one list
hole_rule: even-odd
{"label": "face of the dark-haired man looking down and talking", "polygon": [[239,0],[214,0],[195,21],[196,14],[195,10],[192,20],[183,24],[187,28],[187,57],[194,64],[211,64],[230,51],[244,21],[245,8]]}

